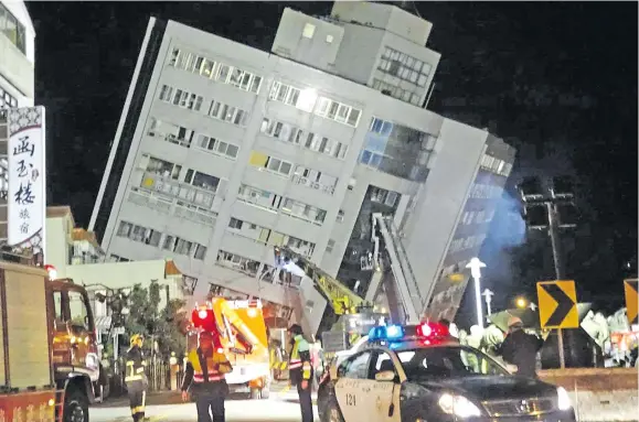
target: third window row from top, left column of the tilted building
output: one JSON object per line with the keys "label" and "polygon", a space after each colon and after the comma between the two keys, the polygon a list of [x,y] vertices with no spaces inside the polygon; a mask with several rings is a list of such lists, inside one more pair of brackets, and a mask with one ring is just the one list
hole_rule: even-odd
{"label": "third window row from top, left column of the tilted building", "polygon": [[231,160],[235,160],[239,152],[239,147],[234,143],[222,141],[204,133],[196,134],[195,131],[191,129],[161,121],[156,118],[151,118],[151,125],[147,133],[150,137],[160,138],[167,142],[175,143],[184,148],[191,148],[194,143],[195,147],[201,150]]}

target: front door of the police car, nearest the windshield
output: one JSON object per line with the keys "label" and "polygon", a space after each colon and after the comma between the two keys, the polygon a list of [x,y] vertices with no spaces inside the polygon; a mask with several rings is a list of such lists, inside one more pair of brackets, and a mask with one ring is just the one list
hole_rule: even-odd
{"label": "front door of the police car, nearest the windshield", "polygon": [[[373,421],[401,422],[400,415],[400,390],[401,383],[395,357],[384,349],[373,351],[369,370],[369,379],[374,382],[369,407],[374,409]],[[395,380],[379,381],[375,376],[383,371],[393,371]]]}

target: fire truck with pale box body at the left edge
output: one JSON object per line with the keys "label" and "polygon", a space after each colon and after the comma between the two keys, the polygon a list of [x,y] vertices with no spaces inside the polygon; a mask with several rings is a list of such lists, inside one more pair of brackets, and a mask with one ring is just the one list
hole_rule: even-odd
{"label": "fire truck with pale box body at the left edge", "polygon": [[0,421],[88,422],[100,368],[84,288],[0,261]]}

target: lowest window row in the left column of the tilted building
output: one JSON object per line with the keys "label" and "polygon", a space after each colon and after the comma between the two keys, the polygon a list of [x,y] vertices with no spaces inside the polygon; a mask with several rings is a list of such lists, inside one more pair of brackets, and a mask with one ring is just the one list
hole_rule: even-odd
{"label": "lowest window row in the left column of the tilted building", "polygon": [[206,247],[204,245],[128,221],[120,221],[116,236],[152,247],[160,247],[161,245],[163,250],[198,260],[204,260],[206,256]]}

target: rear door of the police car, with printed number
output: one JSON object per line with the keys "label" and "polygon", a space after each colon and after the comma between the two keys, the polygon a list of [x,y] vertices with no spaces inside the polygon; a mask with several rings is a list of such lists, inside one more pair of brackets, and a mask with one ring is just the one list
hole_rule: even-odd
{"label": "rear door of the police car, with printed number", "polygon": [[338,368],[334,383],[336,398],[345,421],[374,421],[374,413],[366,408],[366,391],[370,392],[369,363],[371,351],[350,356]]}

